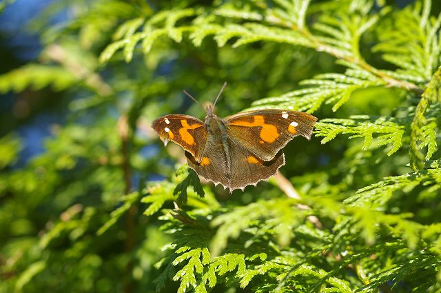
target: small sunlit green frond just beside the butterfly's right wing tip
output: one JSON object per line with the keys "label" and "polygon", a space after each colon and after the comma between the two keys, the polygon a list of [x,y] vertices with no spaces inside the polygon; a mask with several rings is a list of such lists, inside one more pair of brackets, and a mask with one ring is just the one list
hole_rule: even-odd
{"label": "small sunlit green frond just beside the butterfly's right wing tip", "polygon": [[404,125],[400,125],[387,117],[358,116],[351,119],[323,119],[316,123],[316,136],[324,137],[321,143],[335,139],[338,134],[351,134],[349,139],[364,137],[363,149],[369,148],[376,134],[377,145],[391,144],[387,152],[390,156],[402,145]]}

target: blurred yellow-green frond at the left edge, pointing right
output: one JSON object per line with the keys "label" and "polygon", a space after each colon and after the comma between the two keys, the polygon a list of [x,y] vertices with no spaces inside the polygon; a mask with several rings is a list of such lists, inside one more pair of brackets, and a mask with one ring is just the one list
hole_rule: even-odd
{"label": "blurred yellow-green frond at the left edge, pointing right", "polygon": [[25,65],[0,75],[0,92],[23,92],[26,88],[41,90],[51,86],[53,90],[65,90],[77,82],[76,77],[59,66]]}

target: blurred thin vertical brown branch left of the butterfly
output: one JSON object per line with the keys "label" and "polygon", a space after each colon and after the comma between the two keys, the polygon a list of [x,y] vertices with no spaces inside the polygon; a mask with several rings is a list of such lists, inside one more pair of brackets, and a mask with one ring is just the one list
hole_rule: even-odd
{"label": "blurred thin vertical brown branch left of the butterfly", "polygon": [[[132,180],[131,180],[132,171],[130,170],[130,153],[129,153],[130,128],[127,123],[127,117],[125,116],[120,117],[116,125],[116,128],[119,133],[119,136],[121,137],[121,154],[123,156],[121,168],[123,169],[123,177],[125,183],[124,192],[125,194],[129,194],[130,191],[132,190]],[[125,237],[124,246],[125,246],[125,252],[127,254],[132,254],[132,251],[134,250],[136,244],[136,223],[135,223],[136,213],[137,213],[136,205],[132,205],[125,214],[125,231],[127,236]],[[133,259],[132,256],[130,255],[129,261],[127,262],[127,265],[125,267],[125,278],[123,283],[123,292],[125,293],[131,293],[133,291],[133,284],[132,284],[133,265],[134,265]]]}

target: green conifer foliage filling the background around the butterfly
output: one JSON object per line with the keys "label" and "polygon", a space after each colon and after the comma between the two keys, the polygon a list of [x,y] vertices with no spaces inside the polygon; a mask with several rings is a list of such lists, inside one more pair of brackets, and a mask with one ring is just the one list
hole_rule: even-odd
{"label": "green conifer foliage filling the background around the butterfly", "polygon": [[[0,75],[63,113],[24,163],[1,128],[0,292],[440,292],[441,6],[396,2],[54,1]],[[150,128],[223,81],[220,116],[318,117],[231,196]]]}

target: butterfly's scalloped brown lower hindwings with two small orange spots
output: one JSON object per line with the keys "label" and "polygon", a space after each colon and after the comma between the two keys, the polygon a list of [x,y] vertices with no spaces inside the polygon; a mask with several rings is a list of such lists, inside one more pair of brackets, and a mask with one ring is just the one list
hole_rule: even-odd
{"label": "butterfly's scalloped brown lower hindwings with two small orange spots", "polygon": [[237,141],[229,139],[228,145],[229,152],[226,154],[221,141],[209,141],[199,163],[186,152],[189,167],[216,185],[220,183],[231,193],[269,179],[280,166],[285,165],[285,156],[281,150],[271,161],[263,161]]}

